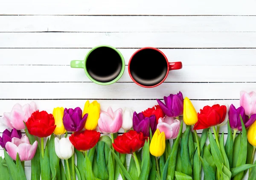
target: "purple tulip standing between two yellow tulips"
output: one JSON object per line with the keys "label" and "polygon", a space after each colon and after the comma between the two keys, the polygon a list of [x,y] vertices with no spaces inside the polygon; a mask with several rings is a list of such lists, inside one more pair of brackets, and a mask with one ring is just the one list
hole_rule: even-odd
{"label": "purple tulip standing between two yellow tulips", "polygon": [[88,114],[82,117],[82,110],[80,107],[64,109],[63,125],[67,131],[78,132],[84,128]]}

